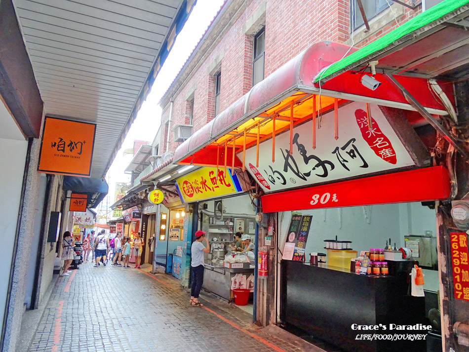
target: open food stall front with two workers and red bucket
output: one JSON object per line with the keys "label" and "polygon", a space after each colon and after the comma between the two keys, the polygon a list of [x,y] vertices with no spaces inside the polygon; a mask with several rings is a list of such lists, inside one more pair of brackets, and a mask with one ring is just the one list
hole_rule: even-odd
{"label": "open food stall front with two workers and red bucket", "polygon": [[[198,229],[206,233],[210,244],[210,253],[204,254],[202,288],[226,301],[243,304],[237,307],[252,314],[257,241],[256,211],[250,196],[207,200],[199,202],[198,209]],[[248,297],[247,304],[241,295]]]}

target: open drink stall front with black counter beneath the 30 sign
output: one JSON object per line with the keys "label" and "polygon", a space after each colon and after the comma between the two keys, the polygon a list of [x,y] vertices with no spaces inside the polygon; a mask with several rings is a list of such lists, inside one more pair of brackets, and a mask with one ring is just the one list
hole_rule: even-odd
{"label": "open drink stall front with black counter beneath the 30 sign", "polygon": [[[279,318],[287,329],[318,347],[347,352],[441,351],[434,202],[281,212],[278,218],[279,243],[287,242]],[[288,260],[286,248],[303,219],[311,222],[304,239],[306,260]],[[384,252],[386,259],[374,260],[370,274],[359,274],[363,254],[374,252]],[[416,264],[425,275],[417,296],[409,275]],[[390,331],[390,324],[432,328],[411,332],[425,334],[425,341],[370,341],[356,339],[363,332],[353,330],[353,324],[383,324],[388,328],[380,330],[383,334],[400,333]]]}

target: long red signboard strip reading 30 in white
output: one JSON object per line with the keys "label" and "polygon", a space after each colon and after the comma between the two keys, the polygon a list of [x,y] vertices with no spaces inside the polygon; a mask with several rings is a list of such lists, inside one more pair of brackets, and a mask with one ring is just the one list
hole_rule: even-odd
{"label": "long red signboard strip reading 30 in white", "polygon": [[262,211],[430,201],[449,196],[448,170],[434,166],[265,195]]}

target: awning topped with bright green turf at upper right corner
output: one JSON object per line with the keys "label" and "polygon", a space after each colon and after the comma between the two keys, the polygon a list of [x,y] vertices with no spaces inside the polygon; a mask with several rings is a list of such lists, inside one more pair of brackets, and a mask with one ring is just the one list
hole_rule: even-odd
{"label": "awning topped with bright green turf at upper right corner", "polygon": [[[375,65],[382,74],[421,78],[467,78],[469,75],[469,1],[445,0],[387,35],[339,60],[316,76],[324,89],[352,83],[354,70]],[[330,81],[330,82],[328,82]],[[347,88],[350,88],[347,86]]]}

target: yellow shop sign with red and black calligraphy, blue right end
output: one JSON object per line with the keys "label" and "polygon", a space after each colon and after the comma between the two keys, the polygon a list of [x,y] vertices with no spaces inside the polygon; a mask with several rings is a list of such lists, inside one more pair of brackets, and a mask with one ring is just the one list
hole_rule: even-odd
{"label": "yellow shop sign with red and black calligraphy, blue right end", "polygon": [[178,192],[185,203],[241,192],[236,174],[220,167],[203,167],[176,180]]}

